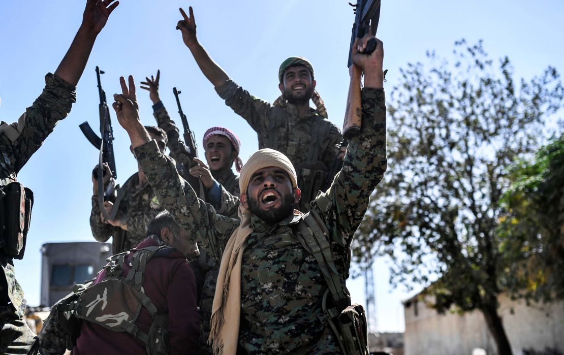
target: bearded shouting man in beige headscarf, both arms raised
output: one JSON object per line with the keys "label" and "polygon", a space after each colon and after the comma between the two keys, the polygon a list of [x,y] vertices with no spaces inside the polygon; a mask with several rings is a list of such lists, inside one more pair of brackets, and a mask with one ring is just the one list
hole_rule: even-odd
{"label": "bearded shouting man in beige headscarf, both arms raised", "polygon": [[[261,149],[241,169],[240,219],[218,215],[197,199],[174,161],[150,139],[134,105],[133,77],[129,88],[121,78],[123,94],[114,96],[114,109],[158,201],[195,234],[200,247],[221,260],[210,334],[216,354],[342,353],[323,307],[327,290],[333,295],[336,286],[329,285],[327,265],[321,265],[303,240],[318,238],[316,231],[323,231],[324,258],[331,259],[340,276],[340,295],[350,303],[344,285],[352,237],[387,164],[384,50],[378,41],[376,51],[362,54],[368,39],[357,40],[352,48],[354,62],[365,75],[362,132],[350,140],[342,170],[311,202],[307,214],[293,209],[301,190],[290,160],[276,150]],[[337,312],[347,305],[336,300],[327,304]]]}

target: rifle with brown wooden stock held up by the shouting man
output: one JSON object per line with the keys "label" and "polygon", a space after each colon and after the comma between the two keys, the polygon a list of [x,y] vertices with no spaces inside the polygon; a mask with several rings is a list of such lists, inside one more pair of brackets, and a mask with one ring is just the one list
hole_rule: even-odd
{"label": "rifle with brown wooden stock held up by the shouting man", "polygon": [[[352,24],[351,45],[349,47],[349,73],[351,81],[349,95],[347,96],[347,108],[345,112],[345,123],[343,125],[343,137],[351,139],[360,134],[362,106],[360,103],[360,79],[362,70],[352,63],[352,44],[356,38],[362,38],[367,33],[376,34],[378,22],[380,21],[381,0],[357,0],[354,7],[356,14]],[[371,54],[376,49],[376,38],[370,39],[364,50],[364,54]]]}

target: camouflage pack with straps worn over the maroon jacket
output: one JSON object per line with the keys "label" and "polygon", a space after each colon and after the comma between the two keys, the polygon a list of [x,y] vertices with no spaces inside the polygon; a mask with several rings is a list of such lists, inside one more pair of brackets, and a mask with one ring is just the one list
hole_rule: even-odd
{"label": "camouflage pack with straps worn over the maroon jacket", "polygon": [[[136,250],[129,261],[131,269],[125,277],[121,273],[129,251],[122,252],[108,259],[109,263],[102,269],[105,270],[105,275],[100,283],[89,287],[75,285],[73,294],[61,300],[54,308],[59,325],[68,334],[67,348],[72,350],[76,346],[81,319],[85,319],[105,329],[128,332],[145,343],[148,355],[168,354],[168,315],[158,312],[153,301],[144,292],[143,281],[149,260],[170,257],[171,252],[173,248],[167,246]],[[141,307],[145,307],[153,318],[147,333],[140,331],[135,325]]]}

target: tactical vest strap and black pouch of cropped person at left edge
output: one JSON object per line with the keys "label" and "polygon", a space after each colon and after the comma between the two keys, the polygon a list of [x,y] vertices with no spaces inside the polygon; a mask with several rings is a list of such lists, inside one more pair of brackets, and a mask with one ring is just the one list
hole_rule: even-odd
{"label": "tactical vest strap and black pouch of cropped person at left edge", "polygon": [[16,181],[16,158],[12,142],[19,132],[0,125],[0,253],[22,259],[33,207],[33,192]]}

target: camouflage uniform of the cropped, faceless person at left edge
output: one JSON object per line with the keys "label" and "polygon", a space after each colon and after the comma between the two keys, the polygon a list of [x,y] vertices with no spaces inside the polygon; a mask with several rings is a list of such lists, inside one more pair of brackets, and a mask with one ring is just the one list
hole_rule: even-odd
{"label": "camouflage uniform of the cropped, faceless person at left edge", "polygon": [[[76,87],[47,74],[45,88],[19,121],[0,126],[0,186],[16,181],[17,172],[28,162],[57,122],[70,112],[76,102]],[[35,335],[23,321],[24,292],[16,280],[14,263],[10,256],[0,251],[3,276],[0,276],[0,353],[25,354]]]}

